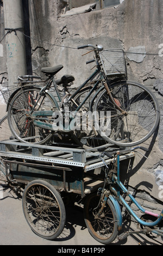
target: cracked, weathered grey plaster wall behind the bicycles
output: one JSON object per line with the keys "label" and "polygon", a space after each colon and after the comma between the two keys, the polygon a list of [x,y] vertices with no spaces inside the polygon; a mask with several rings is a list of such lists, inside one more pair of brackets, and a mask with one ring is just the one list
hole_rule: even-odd
{"label": "cracked, weathered grey plaster wall behind the bicycles", "polygon": [[[92,54],[82,57],[85,51],[77,50],[78,45],[102,44],[104,48],[121,47],[128,52],[126,60],[129,80],[146,84],[154,92],[161,106],[159,130],[145,143],[145,146],[151,149],[151,152],[146,154],[148,160],[141,155],[136,157],[134,170],[129,174],[129,184],[141,190],[145,189],[152,193],[153,197],[160,199],[154,172],[158,167],[162,168],[163,160],[163,57],[158,55],[163,53],[163,2],[124,0],[116,7],[65,16],[67,5],[67,0],[29,1],[31,48],[29,45],[26,47],[32,54],[33,74],[42,76],[42,66],[62,64],[64,69],[57,74],[57,78],[64,74],[74,75],[76,88],[89,76],[93,66],[85,64],[86,60],[92,59]],[[1,7],[1,15],[2,13]],[[141,52],[143,56],[129,52]],[[3,58],[5,62],[5,52]],[[4,63],[1,70],[7,72]],[[142,182],[147,180],[150,186]]]}

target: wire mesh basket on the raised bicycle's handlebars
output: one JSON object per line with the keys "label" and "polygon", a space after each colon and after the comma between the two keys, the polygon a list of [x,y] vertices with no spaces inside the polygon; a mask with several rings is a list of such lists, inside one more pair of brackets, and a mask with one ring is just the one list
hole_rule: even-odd
{"label": "wire mesh basket on the raised bicycle's handlebars", "polygon": [[127,77],[126,59],[121,49],[108,49],[99,53],[106,77]]}

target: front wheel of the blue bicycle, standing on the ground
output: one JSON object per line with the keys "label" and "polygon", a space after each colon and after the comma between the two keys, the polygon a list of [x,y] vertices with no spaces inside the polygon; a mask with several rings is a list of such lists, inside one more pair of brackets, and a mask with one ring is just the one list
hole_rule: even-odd
{"label": "front wheel of the blue bicycle, standing on the ground", "polygon": [[114,241],[118,235],[117,214],[110,199],[108,199],[105,208],[99,216],[98,211],[101,204],[98,205],[100,197],[97,194],[91,194],[84,204],[84,220],[90,234],[98,242],[108,245]]}

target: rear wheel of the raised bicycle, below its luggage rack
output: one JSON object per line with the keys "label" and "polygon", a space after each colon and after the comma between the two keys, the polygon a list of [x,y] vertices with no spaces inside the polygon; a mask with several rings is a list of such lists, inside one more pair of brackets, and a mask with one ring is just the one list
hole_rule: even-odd
{"label": "rear wheel of the raised bicycle, below its luggage rack", "polygon": [[[34,111],[51,111],[55,108],[49,94],[45,94],[39,99],[40,90],[39,87],[22,88],[10,102],[8,108],[9,127],[15,138],[21,142],[43,144],[52,137],[52,131],[35,126],[33,118],[30,117],[30,111],[33,108]],[[37,99],[39,99],[38,102]]]}

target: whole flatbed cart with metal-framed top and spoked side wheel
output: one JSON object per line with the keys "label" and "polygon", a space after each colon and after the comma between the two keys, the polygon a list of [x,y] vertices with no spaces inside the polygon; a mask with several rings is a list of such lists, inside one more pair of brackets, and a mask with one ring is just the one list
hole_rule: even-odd
{"label": "whole flatbed cart with metal-framed top and spoked side wheel", "polygon": [[[103,167],[114,159],[78,148],[0,142],[1,168],[8,183],[22,193],[24,216],[30,228],[44,239],[58,237],[65,226],[65,194],[84,198],[103,187]],[[134,157],[133,152],[120,161]]]}

